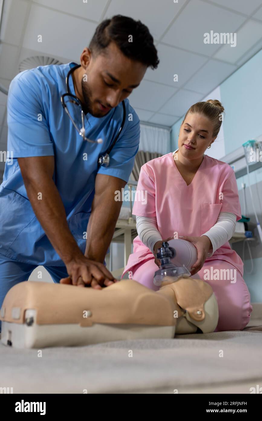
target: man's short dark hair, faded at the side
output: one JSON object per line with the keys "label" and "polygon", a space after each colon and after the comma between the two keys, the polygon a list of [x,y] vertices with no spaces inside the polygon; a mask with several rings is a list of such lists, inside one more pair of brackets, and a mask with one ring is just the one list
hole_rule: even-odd
{"label": "man's short dark hair, faded at the side", "polygon": [[[133,42],[128,42],[129,35],[132,35]],[[129,59],[139,61],[152,69],[157,68],[159,59],[153,37],[141,21],[122,15],[105,19],[97,26],[88,48],[96,57],[103,53],[110,42],[116,43]]]}

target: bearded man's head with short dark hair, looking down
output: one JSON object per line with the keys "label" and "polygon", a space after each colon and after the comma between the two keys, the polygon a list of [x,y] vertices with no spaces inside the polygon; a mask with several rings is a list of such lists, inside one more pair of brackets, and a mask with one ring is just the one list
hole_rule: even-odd
{"label": "bearded man's head with short dark hair, looking down", "polygon": [[98,25],[80,63],[84,109],[104,117],[139,86],[147,67],[157,68],[159,60],[148,28],[141,21],[116,15]]}

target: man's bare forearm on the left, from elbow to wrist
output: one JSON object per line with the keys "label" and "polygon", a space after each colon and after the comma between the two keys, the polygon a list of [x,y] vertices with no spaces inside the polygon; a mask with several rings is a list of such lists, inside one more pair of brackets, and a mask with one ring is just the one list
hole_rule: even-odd
{"label": "man's bare forearm on the left, from elbow to wrist", "polygon": [[80,254],[83,256],[68,228],[65,208],[54,181],[50,178],[30,179],[25,180],[25,186],[38,221],[64,263]]}

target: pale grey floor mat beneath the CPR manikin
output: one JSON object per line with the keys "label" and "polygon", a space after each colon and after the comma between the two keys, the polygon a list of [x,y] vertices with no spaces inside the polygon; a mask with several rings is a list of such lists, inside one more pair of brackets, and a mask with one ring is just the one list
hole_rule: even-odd
{"label": "pale grey floor mat beneath the CPR manikin", "polygon": [[242,384],[239,393],[250,393],[262,386],[262,326],[253,329],[44,348],[42,357],[1,344],[0,386],[13,393],[173,394],[238,393]]}

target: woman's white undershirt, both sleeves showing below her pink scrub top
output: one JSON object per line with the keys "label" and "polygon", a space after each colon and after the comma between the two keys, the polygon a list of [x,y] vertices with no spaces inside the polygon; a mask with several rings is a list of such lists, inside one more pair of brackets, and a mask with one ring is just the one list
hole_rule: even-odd
{"label": "woman's white undershirt, both sleeves showing below her pink scrub top", "polygon": [[[206,235],[211,243],[212,249],[207,254],[207,257],[213,256],[215,250],[224,245],[231,239],[236,229],[236,215],[231,212],[220,212],[217,222],[203,235]],[[161,237],[157,229],[157,218],[148,218],[146,216],[136,216],[136,230],[139,238],[149,250],[154,253],[154,245],[157,241],[165,240]],[[202,237],[201,236],[201,237]]]}

